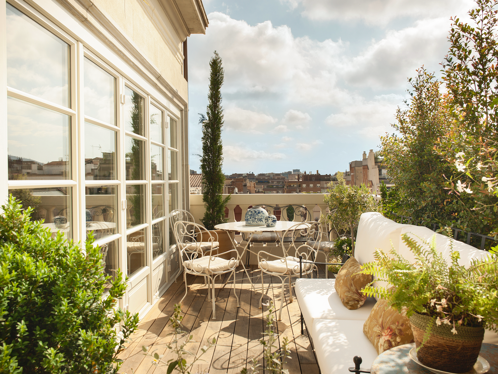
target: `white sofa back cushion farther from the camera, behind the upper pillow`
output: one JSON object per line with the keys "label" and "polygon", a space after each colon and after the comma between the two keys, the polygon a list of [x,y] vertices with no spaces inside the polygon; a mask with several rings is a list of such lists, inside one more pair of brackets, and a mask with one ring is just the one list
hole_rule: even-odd
{"label": "white sofa back cushion farther from the camera, behind the upper pillow", "polygon": [[372,262],[375,249],[388,253],[391,242],[397,253],[399,235],[405,226],[410,225],[396,223],[378,212],[363,213],[356,234],[355,258],[361,265]]}

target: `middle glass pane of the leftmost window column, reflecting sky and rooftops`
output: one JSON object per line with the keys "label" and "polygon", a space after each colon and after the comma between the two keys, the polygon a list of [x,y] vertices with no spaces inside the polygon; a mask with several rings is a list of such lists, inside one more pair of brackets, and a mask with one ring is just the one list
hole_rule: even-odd
{"label": "middle glass pane of the leftmost window column, reflecting sky and rooftops", "polygon": [[8,179],[71,179],[69,115],[7,97]]}

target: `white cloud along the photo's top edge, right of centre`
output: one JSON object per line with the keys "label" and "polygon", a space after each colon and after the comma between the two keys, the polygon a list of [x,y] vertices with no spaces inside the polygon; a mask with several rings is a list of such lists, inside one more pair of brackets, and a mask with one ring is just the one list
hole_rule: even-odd
{"label": "white cloud along the photo's top edge, right of centre", "polygon": [[369,24],[386,24],[406,16],[463,14],[474,6],[471,0],[280,0],[291,9],[302,6],[303,16],[314,20],[363,20]]}

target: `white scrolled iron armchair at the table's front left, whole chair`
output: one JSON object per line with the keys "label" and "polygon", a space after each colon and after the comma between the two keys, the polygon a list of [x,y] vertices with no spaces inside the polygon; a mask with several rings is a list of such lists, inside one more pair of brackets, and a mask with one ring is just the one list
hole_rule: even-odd
{"label": "white scrolled iron armchair at the table's front left, whole chair", "polygon": [[[183,263],[183,281],[185,281],[185,295],[180,302],[187,296],[187,274],[206,277],[208,280],[208,301],[213,302],[213,319],[216,319],[215,281],[217,277],[231,273],[230,276],[234,277],[233,290],[237,298],[237,306],[241,306],[239,296],[235,292],[235,274],[240,262],[239,252],[231,249],[224,253],[214,254],[213,251],[218,249],[218,235],[216,232],[208,231],[204,226],[196,223],[176,221],[173,232],[180,249],[180,257]],[[234,257],[230,260],[220,257],[228,253],[233,253]]]}

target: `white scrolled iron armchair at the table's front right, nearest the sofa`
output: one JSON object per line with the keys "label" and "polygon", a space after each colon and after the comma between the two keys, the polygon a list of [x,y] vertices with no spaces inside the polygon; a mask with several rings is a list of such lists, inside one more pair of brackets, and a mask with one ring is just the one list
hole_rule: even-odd
{"label": "white scrolled iron armchair at the table's front right, nearest the sofa", "polygon": [[[261,298],[259,299],[259,308],[262,307],[263,296],[268,293],[271,282],[268,284],[266,293],[264,292],[263,284],[263,273],[270,276],[275,276],[280,278],[282,281],[282,293],[280,298],[280,311],[278,312],[278,320],[282,319],[282,306],[283,306],[283,296],[284,296],[284,286],[285,281],[289,280],[289,302],[293,301],[292,297],[292,277],[300,277],[300,266],[299,266],[299,256],[303,257],[302,260],[302,276],[311,274],[313,278],[313,271],[317,270],[316,265],[313,263],[316,258],[317,249],[308,245],[308,241],[304,243],[301,242],[300,238],[305,237],[318,241],[318,247],[322,240],[322,226],[319,222],[308,221],[303,223],[296,223],[285,231],[282,238],[290,239],[290,241],[285,242],[285,248],[283,239],[282,249],[284,256],[272,255],[265,251],[259,251],[257,253],[257,267],[261,270]],[[299,241],[298,241],[299,238]],[[291,254],[291,256],[289,256]],[[274,260],[270,260],[274,258]]]}

